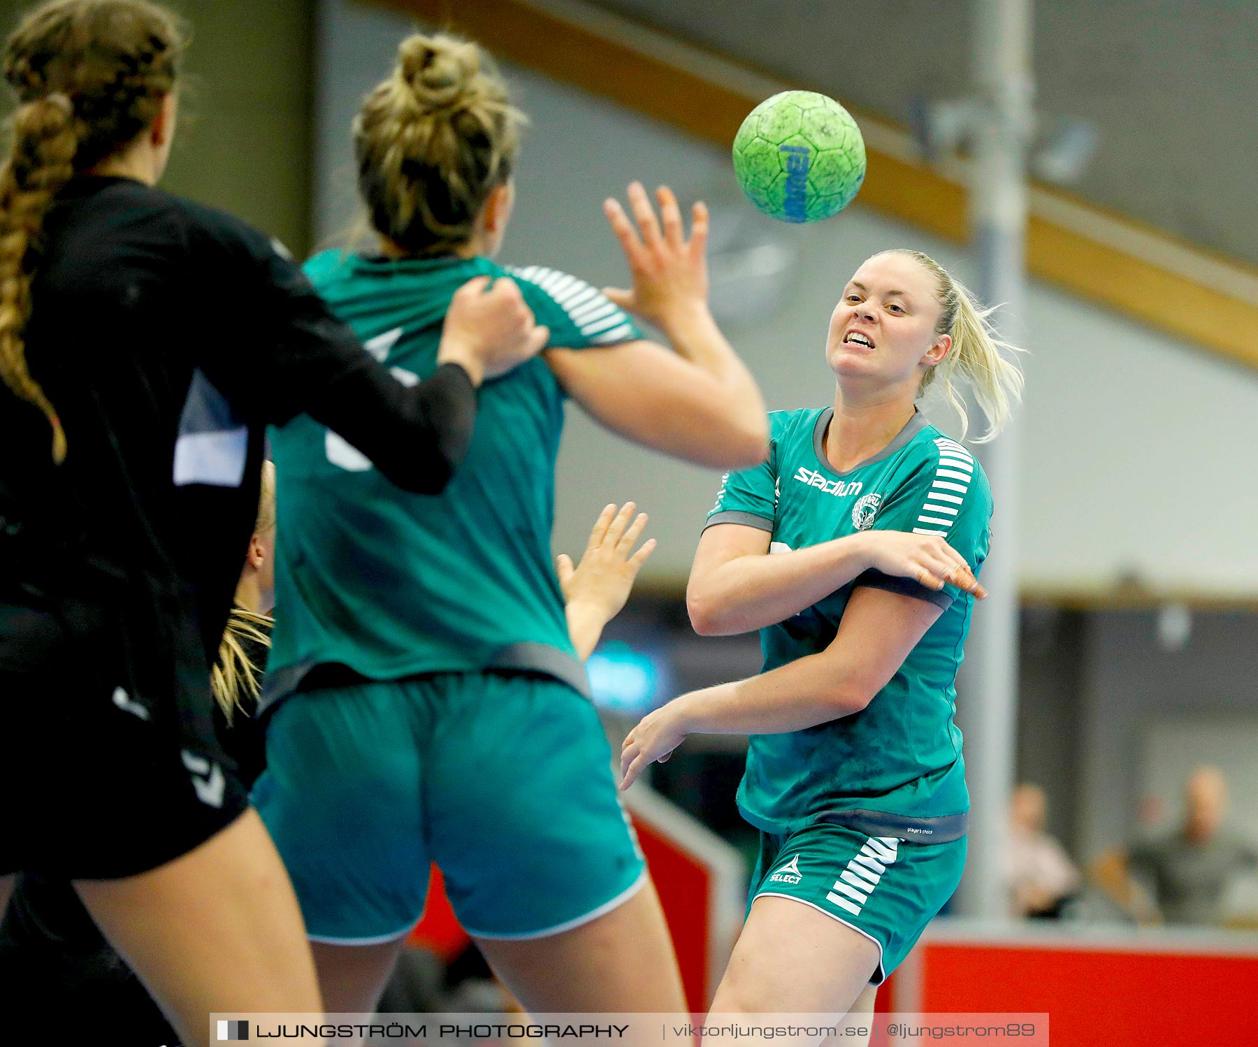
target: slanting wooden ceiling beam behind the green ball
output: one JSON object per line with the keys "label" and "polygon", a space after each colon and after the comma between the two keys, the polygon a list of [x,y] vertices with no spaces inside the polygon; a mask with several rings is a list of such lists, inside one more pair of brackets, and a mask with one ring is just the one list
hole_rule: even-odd
{"label": "slanting wooden ceiling beam behind the green ball", "polygon": [[[752,106],[786,87],[657,30],[618,31],[629,24],[596,9],[577,16],[574,0],[364,1],[452,28],[509,62],[725,147]],[[964,185],[898,147],[902,131],[853,115],[868,154],[858,203],[965,242]],[[1048,283],[1258,369],[1258,271],[1042,186],[1032,194],[1027,266]]]}

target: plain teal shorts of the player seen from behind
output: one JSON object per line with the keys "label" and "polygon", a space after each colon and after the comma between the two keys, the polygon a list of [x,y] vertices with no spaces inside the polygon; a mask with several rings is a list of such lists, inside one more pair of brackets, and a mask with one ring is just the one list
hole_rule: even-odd
{"label": "plain teal shorts of the player seen from behind", "polygon": [[590,702],[526,673],[438,673],[298,693],[267,725],[253,800],[314,941],[406,934],[429,865],[476,938],[609,912],[645,867]]}

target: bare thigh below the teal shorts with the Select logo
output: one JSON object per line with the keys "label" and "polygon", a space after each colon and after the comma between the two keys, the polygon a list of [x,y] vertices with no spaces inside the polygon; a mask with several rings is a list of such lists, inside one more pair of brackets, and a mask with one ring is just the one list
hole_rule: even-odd
{"label": "bare thigh below the teal shorts with the Select logo", "polygon": [[845,1014],[878,968],[866,935],[795,899],[757,897],[712,1000],[713,1014]]}

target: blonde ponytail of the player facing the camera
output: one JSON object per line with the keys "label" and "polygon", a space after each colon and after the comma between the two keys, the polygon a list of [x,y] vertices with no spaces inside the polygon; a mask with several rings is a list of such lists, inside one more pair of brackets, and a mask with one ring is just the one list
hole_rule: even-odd
{"label": "blonde ponytail of the player facing the camera", "polygon": [[1024,350],[998,337],[991,323],[995,307],[979,305],[970,289],[928,254],[906,248],[897,248],[894,253],[907,254],[935,277],[935,294],[940,305],[935,333],[952,337],[947,356],[926,371],[918,395],[932,385],[941,385],[944,399],[961,419],[964,439],[970,428],[970,418],[955,383],[960,372],[969,380],[974,399],[988,419],[988,432],[974,443],[995,439],[1013,414],[1014,404],[1021,400],[1023,391],[1021,370],[1003,354],[1013,355]]}

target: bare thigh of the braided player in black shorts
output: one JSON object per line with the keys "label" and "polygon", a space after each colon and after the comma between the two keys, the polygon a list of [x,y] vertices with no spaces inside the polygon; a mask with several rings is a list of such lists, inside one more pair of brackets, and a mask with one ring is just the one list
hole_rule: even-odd
{"label": "bare thigh of the braided player in black shorts", "polygon": [[297,899],[253,810],[157,868],[74,887],[186,1043],[208,1042],[215,1011],[322,1011]]}

